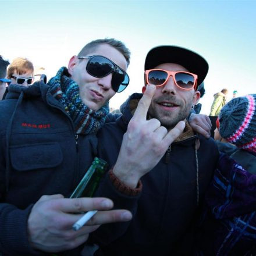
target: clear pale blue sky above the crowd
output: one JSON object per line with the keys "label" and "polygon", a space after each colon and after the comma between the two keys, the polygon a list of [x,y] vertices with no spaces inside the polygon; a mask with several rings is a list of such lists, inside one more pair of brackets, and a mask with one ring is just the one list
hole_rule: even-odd
{"label": "clear pale blue sky above the crowd", "polygon": [[180,45],[207,59],[202,113],[228,88],[256,93],[256,1],[1,1],[0,55],[29,58],[48,79],[89,41],[113,37],[131,50],[130,85],[118,108],[143,86],[144,59],[157,45]]}

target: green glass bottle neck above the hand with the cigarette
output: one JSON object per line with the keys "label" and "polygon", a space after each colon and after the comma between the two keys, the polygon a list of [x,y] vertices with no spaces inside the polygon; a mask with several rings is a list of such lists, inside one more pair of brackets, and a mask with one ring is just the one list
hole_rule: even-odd
{"label": "green glass bottle neck above the hand with the cigarette", "polygon": [[106,172],[106,168],[108,168],[108,163],[101,158],[95,157],[90,168],[87,170],[70,198],[92,197],[98,187],[99,180],[101,180]]}

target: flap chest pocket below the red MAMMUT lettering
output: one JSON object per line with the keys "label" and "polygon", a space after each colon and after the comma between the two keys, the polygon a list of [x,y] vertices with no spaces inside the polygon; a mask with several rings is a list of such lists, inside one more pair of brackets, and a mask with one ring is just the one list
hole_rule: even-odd
{"label": "flap chest pocket below the red MAMMUT lettering", "polygon": [[59,143],[26,144],[10,148],[10,162],[20,172],[53,168],[62,161],[63,154]]}

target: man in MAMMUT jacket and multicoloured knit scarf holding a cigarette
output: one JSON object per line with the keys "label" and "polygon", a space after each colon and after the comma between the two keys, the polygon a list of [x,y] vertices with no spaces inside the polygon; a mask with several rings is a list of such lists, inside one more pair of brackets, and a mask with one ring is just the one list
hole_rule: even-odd
{"label": "man in MAMMUT jacket and multicoloured knit scarf holding a cigarette", "polygon": [[[129,61],[122,42],[95,40],[47,84],[42,77],[20,86],[15,75],[0,103],[0,254],[79,255],[99,225],[131,219],[127,210],[109,211],[107,198],[69,199],[97,154],[109,99],[129,83]],[[74,231],[81,212],[93,209]]]}

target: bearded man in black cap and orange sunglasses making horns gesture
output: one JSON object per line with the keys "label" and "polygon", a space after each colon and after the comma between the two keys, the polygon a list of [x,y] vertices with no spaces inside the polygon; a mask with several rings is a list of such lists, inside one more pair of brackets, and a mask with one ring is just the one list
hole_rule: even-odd
{"label": "bearded man in black cap and orange sunglasses making horns gesture", "polygon": [[148,52],[143,94],[132,94],[121,118],[98,133],[99,157],[113,168],[97,193],[129,209],[133,219],[95,231],[94,255],[190,255],[219,157],[214,140],[195,134],[186,120],[207,72],[205,59],[189,49]]}

